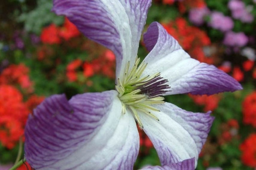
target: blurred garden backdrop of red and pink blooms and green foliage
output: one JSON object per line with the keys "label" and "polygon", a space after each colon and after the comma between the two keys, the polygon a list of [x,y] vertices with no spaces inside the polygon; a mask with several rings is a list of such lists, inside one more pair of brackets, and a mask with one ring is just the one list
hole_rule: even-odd
{"label": "blurred garden backdrop of red and pink blooms and green foliage", "polygon": [[[22,159],[27,117],[44,98],[114,89],[115,55],[51,8],[51,0],[0,2],[0,170]],[[149,10],[145,30],[160,22],[192,58],[214,64],[244,88],[166,97],[188,111],[213,111],[197,170],[256,169],[255,18],[255,0],[153,0]],[[138,56],[147,53],[141,41]],[[149,138],[139,132],[134,169],[160,165]]]}

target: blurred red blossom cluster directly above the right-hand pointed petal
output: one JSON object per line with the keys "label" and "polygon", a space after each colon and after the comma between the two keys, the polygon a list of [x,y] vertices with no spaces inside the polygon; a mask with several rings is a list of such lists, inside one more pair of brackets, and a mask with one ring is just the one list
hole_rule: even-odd
{"label": "blurred red blossom cluster directly above the right-hand pointed petal", "polygon": [[206,57],[203,48],[211,44],[208,35],[197,27],[190,26],[184,18],[177,18],[167,24],[162,24],[167,32],[172,35],[192,58],[213,63],[211,57]]}

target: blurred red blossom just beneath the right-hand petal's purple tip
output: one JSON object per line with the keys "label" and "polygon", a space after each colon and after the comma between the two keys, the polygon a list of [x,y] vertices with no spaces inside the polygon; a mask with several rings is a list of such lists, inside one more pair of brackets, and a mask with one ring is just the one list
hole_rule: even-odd
{"label": "blurred red blossom just beneath the right-hand petal's purple tip", "polygon": [[220,96],[219,95],[191,95],[189,97],[193,99],[193,101],[200,105],[204,106],[204,111],[207,112],[209,110],[213,111],[218,107]]}

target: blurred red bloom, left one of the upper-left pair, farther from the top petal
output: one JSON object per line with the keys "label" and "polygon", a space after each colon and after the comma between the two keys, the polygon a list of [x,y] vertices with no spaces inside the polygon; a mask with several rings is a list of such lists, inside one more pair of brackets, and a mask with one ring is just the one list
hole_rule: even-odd
{"label": "blurred red bloom, left one of the upper-left pair, farther from the top petal", "polygon": [[41,33],[41,41],[46,44],[60,44],[59,31],[60,29],[55,24],[44,27]]}

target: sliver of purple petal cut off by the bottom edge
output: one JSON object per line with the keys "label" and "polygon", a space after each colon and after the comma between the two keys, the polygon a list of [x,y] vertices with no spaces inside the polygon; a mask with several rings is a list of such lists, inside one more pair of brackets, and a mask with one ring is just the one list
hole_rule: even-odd
{"label": "sliver of purple petal cut off by the bottom edge", "polygon": [[195,169],[195,159],[186,159],[182,162],[172,163],[165,166],[148,166],[142,168],[141,170],[194,170]]}

